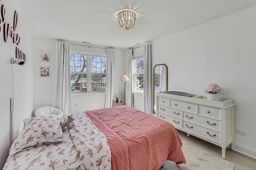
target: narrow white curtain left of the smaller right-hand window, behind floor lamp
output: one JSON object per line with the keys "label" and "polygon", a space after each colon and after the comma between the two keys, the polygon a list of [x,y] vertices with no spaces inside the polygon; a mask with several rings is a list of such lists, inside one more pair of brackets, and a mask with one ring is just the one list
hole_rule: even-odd
{"label": "narrow white curtain left of the smaller right-hand window, behind floor lamp", "polygon": [[133,107],[132,98],[132,49],[126,52],[126,76],[130,78],[130,81],[126,82],[126,92],[125,92],[125,105]]}

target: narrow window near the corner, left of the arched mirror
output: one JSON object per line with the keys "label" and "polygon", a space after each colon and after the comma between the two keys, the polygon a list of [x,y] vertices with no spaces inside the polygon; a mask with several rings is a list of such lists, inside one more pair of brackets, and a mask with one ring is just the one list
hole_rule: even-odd
{"label": "narrow window near the corner, left of the arched mirror", "polygon": [[143,92],[144,89],[144,58],[143,56],[134,57],[134,91]]}

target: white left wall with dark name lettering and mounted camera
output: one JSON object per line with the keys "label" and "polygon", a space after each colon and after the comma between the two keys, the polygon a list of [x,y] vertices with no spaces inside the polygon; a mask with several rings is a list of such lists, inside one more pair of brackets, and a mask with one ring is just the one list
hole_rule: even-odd
{"label": "white left wall with dark name lettering and mounted camera", "polygon": [[20,44],[16,45],[10,37],[8,37],[7,42],[4,42],[3,28],[0,32],[0,169],[2,169],[10,148],[10,98],[12,98],[12,64],[10,59],[15,57],[15,47],[26,54],[25,65],[13,65],[13,122],[14,136],[16,136],[23,127],[22,119],[31,117],[33,111],[33,37],[19,1],[0,0],[0,5],[4,5],[6,10],[5,21],[10,23],[11,26],[14,21],[14,11],[17,11],[16,33],[20,35]]}

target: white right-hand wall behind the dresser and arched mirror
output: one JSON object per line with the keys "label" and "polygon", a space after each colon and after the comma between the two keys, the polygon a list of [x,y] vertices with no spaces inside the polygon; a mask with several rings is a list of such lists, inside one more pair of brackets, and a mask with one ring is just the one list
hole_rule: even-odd
{"label": "white right-hand wall behind the dresser and arched mirror", "polygon": [[236,103],[235,149],[256,157],[256,6],[152,42],[152,67],[168,66],[168,90],[202,95],[210,83]]}

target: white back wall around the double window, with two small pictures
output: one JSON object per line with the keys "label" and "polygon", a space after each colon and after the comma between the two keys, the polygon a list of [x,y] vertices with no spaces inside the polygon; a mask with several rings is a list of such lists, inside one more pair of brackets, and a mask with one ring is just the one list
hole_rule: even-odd
{"label": "white back wall around the double window, with two small pictures", "polygon": [[[54,82],[54,67],[56,66],[56,42],[57,39],[46,39],[34,37],[34,110],[42,106],[51,106],[52,86]],[[40,53],[50,53],[50,62],[41,62]],[[115,49],[116,74],[121,77],[125,69],[126,51]],[[50,77],[40,77],[40,66],[50,66]],[[119,78],[118,78],[119,80]],[[115,88],[118,88],[120,98],[124,95],[124,89],[121,81],[118,81]],[[72,113],[102,109],[105,107],[105,93],[91,93],[86,95],[72,96]]]}

